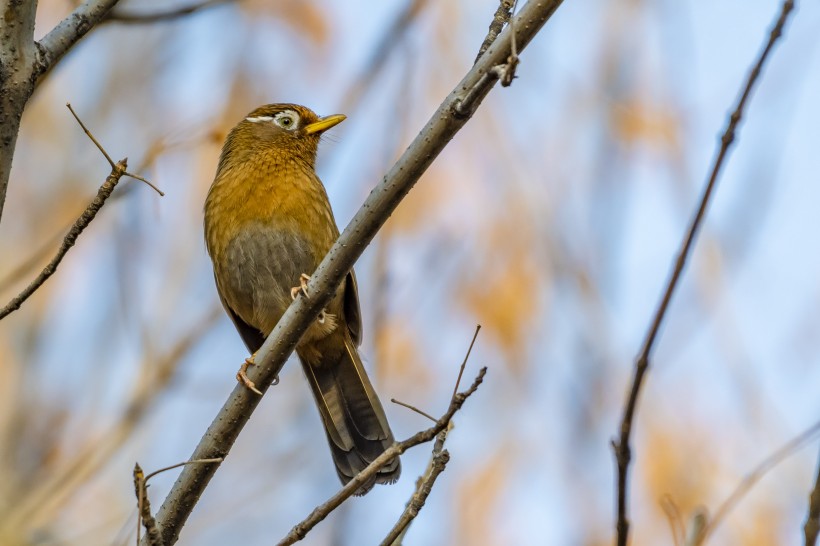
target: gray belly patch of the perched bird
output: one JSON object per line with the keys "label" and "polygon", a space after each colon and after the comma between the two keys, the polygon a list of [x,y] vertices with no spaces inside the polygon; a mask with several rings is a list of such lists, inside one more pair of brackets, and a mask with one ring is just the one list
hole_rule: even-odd
{"label": "gray belly patch of the perched bird", "polygon": [[249,325],[268,335],[291,303],[302,273],[312,274],[321,256],[292,231],[255,227],[241,231],[216,270],[226,303]]}

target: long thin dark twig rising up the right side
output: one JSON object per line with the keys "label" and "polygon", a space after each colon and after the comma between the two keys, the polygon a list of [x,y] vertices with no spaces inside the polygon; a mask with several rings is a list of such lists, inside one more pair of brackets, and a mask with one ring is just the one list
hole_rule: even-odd
{"label": "long thin dark twig rising up the right side", "polygon": [[646,333],[646,338],[643,342],[643,347],[635,363],[635,372],[632,378],[632,386],[629,390],[629,396],[626,401],[623,418],[621,420],[620,437],[617,441],[613,440],[612,442],[612,447],[615,452],[615,459],[618,466],[618,519],[616,523],[618,546],[626,546],[628,542],[629,519],[627,516],[627,480],[629,472],[629,463],[632,456],[629,447],[629,439],[632,432],[632,420],[635,416],[635,409],[638,404],[638,394],[640,393],[641,385],[643,384],[643,378],[646,375],[647,370],[649,369],[649,358],[651,356],[652,349],[655,344],[655,339],[658,335],[658,331],[660,330],[661,324],[663,323],[663,319],[666,315],[666,310],[669,307],[669,302],[672,299],[672,294],[674,293],[675,288],[678,285],[678,281],[683,272],[683,268],[686,265],[689,253],[692,250],[692,247],[694,246],[695,238],[700,229],[700,225],[703,221],[703,218],[706,214],[706,209],[709,205],[709,201],[712,196],[712,191],[714,190],[715,185],[717,183],[718,175],[720,174],[720,170],[723,166],[724,159],[727,155],[729,147],[735,140],[735,132],[737,130],[737,126],[740,122],[740,119],[743,116],[743,109],[746,106],[746,102],[749,99],[754,84],[757,82],[757,79],[760,76],[761,69],[763,68],[763,64],[769,56],[769,52],[772,50],[774,44],[777,42],[777,39],[782,35],[783,27],[786,23],[789,13],[792,11],[793,8],[793,0],[786,0],[783,2],[783,6],[780,11],[780,16],[769,34],[769,39],[766,43],[766,46],[763,48],[763,51],[760,53],[757,62],[753,66],[751,72],[749,73],[746,79],[746,83],[743,87],[740,99],[738,100],[737,105],[735,106],[734,111],[732,112],[732,115],[729,118],[729,122],[723,133],[723,137],[721,138],[717,157],[715,158],[714,164],[712,166],[711,174],[709,175],[709,180],[706,183],[706,186],[703,190],[703,195],[700,198],[700,204],[698,205],[697,212],[692,218],[686,236],[684,237],[683,243],[678,251],[674,269],[669,278],[669,281],[666,284],[666,289],[664,290],[663,297],[661,298],[660,304],[658,305],[658,308],[655,311],[655,314],[652,318],[652,322]]}

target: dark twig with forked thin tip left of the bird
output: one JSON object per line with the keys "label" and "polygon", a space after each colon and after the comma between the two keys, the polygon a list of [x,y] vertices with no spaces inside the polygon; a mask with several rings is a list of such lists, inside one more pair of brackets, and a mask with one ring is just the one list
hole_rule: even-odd
{"label": "dark twig with forked thin tip left of the bird", "polygon": [[[43,283],[45,283],[54,273],[57,272],[57,266],[60,265],[60,262],[63,261],[63,258],[68,253],[68,251],[73,247],[76,242],[77,238],[80,234],[85,231],[85,228],[91,223],[94,218],[96,218],[97,213],[100,211],[102,206],[105,204],[106,200],[111,196],[111,192],[114,191],[114,188],[117,187],[117,184],[120,181],[120,178],[123,176],[130,176],[132,178],[137,178],[138,180],[142,180],[144,182],[148,182],[147,180],[136,177],[133,174],[128,172],[128,158],[123,158],[120,161],[114,163],[111,159],[111,156],[105,151],[99,141],[94,138],[94,135],[91,134],[91,131],[85,126],[85,124],[80,120],[79,116],[74,112],[74,109],[71,107],[70,104],[66,104],[68,109],[71,111],[71,114],[80,124],[80,127],[83,128],[85,134],[91,139],[94,145],[102,152],[105,156],[105,159],[108,161],[109,165],[111,165],[111,173],[106,177],[105,182],[103,182],[100,189],[97,190],[97,195],[94,197],[94,200],[86,207],[83,213],[80,215],[79,218],[74,222],[74,225],[71,226],[71,229],[66,233],[65,237],[63,238],[63,244],[60,245],[60,248],[57,250],[57,254],[51,261],[43,268],[37,277],[31,281],[31,283],[23,289],[17,296],[12,298],[12,300],[6,304],[5,307],[0,309],[0,320],[8,316],[9,314],[13,313],[17,309],[23,305],[29,297],[31,297],[34,292],[40,288]],[[153,184],[148,183],[149,186],[153,187],[156,191],[159,192],[160,195],[163,195],[161,191],[159,191]]]}

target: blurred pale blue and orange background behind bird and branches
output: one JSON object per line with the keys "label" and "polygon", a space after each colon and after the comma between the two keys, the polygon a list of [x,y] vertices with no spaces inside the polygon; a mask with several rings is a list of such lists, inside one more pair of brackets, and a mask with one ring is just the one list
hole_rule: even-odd
{"label": "blurred pale blue and orange background behind bird and branches", "polygon": [[[188,5],[180,2],[178,5]],[[0,297],[59,246],[109,169],[133,180],[58,273],[0,324],[0,542],[132,544],[131,471],[186,460],[245,348],[222,313],[202,206],[227,131],[269,102],[348,120],[318,171],[337,221],[475,58],[497,0],[241,0],[94,30],[23,117],[0,224]],[[567,0],[356,266],[363,355],[398,438],[439,415],[476,324],[451,462],[406,544],[611,544],[610,440],[633,360],[774,0]],[[122,2],[119,13],[164,10]],[[40,37],[73,7],[43,0]],[[670,308],[633,435],[632,542],[661,507],[712,512],[820,417],[820,6],[803,2],[741,124]],[[812,98],[814,97],[814,98]],[[305,544],[375,544],[424,472],[347,502]],[[770,471],[713,544],[795,544],[817,442]],[[154,478],[154,508],[177,471]],[[182,533],[271,544],[339,488],[288,364]]]}

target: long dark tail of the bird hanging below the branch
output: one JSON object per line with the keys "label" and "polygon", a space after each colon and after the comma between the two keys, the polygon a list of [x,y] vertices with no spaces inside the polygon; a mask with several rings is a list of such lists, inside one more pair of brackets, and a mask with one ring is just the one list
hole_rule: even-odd
{"label": "long dark tail of the bird hanging below the branch", "polygon": [[[310,355],[299,351],[342,483],[349,482],[393,444],[384,409],[346,330],[339,328],[317,342],[308,349]],[[356,494],[367,493],[376,483],[393,483],[400,473],[397,457]]]}

